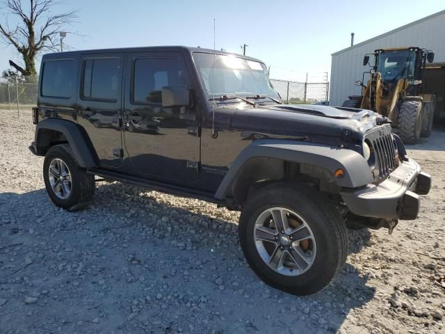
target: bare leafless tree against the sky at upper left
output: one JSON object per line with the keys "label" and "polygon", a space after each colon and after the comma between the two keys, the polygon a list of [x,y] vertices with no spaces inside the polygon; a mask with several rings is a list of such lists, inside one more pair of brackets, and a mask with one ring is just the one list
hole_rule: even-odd
{"label": "bare leafless tree against the sky at upper left", "polygon": [[[26,0],[24,0],[26,1]],[[58,51],[58,33],[76,17],[76,12],[53,14],[56,0],[1,0],[3,21],[0,34],[7,45],[12,45],[22,55],[24,67],[9,61],[10,65],[25,76],[35,76],[35,56],[45,49]],[[27,1],[26,1],[27,2]],[[17,24],[10,27],[8,15],[13,15]]]}

